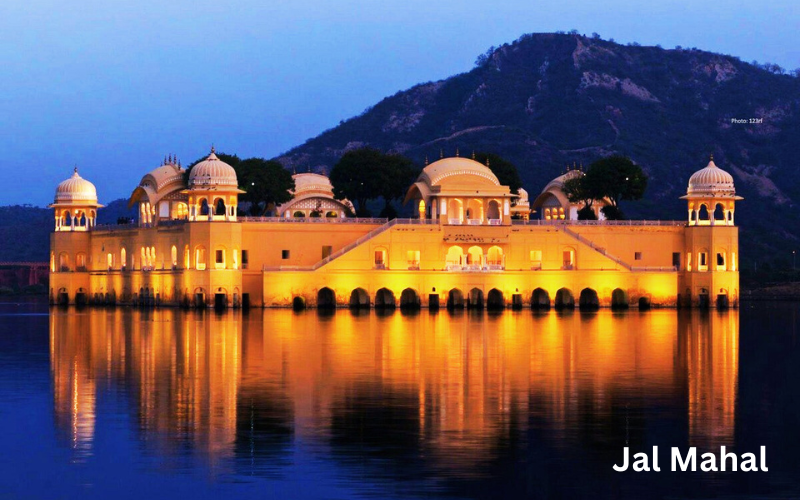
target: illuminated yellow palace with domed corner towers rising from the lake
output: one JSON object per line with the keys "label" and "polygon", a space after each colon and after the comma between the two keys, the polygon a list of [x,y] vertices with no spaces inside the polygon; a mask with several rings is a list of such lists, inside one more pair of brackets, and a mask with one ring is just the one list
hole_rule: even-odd
{"label": "illuminated yellow palace with domed corner towers rising from the lake", "polygon": [[[234,169],[173,159],[130,198],[135,224],[96,224],[77,169],[51,207],[54,304],[185,307],[574,308],[738,306],[733,177],[689,179],[686,221],[582,221],[563,183],[531,204],[467,158],[427,165],[412,219],[350,217],[324,175],[296,174],[278,217],[242,217]],[[246,188],[246,186],[244,186]],[[594,209],[602,207],[595,204]],[[536,214],[531,217],[530,214]],[[602,217],[601,217],[602,219]]]}

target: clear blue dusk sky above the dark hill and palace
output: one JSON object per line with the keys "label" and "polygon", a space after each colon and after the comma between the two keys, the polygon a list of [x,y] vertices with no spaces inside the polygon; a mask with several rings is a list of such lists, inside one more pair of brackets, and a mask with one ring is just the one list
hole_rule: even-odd
{"label": "clear blue dusk sky above the dark hill and palace", "polygon": [[5,0],[0,19],[2,204],[50,203],[74,165],[107,203],[170,153],[273,157],[523,33],[800,67],[797,0]]}

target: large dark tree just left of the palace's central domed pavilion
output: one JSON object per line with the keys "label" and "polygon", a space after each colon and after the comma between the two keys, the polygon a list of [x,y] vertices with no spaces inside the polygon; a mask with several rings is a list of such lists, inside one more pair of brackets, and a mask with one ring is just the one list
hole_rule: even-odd
{"label": "large dark tree just left of the palace's central domed pavilion", "polygon": [[367,202],[378,197],[384,199],[384,213],[391,213],[392,200],[405,194],[415,175],[416,168],[408,158],[366,147],[342,155],[330,179],[337,198],[349,198],[356,205],[356,215],[369,216]]}

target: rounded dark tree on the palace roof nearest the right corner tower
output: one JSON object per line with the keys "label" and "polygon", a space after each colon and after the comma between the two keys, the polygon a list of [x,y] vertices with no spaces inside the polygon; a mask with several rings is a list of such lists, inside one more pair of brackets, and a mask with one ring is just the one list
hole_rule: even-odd
{"label": "rounded dark tree on the palace roof nearest the right corner tower", "polygon": [[589,165],[582,182],[590,186],[595,199],[608,199],[612,208],[604,207],[603,213],[609,219],[622,218],[619,202],[639,200],[647,188],[647,176],[642,167],[619,155]]}

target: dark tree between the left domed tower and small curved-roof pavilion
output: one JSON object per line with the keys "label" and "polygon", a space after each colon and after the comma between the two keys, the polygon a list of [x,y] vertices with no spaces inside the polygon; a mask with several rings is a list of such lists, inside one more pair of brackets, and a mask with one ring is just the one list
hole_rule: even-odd
{"label": "dark tree between the left domed tower and small curved-roof pavilion", "polygon": [[235,167],[239,186],[245,191],[239,199],[250,202],[251,215],[263,215],[274,206],[292,199],[292,174],[275,160],[248,158]]}

